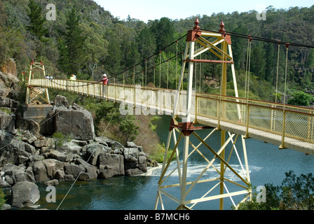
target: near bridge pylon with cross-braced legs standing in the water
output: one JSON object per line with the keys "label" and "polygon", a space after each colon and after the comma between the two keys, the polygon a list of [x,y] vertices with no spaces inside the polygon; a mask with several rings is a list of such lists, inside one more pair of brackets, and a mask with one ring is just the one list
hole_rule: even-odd
{"label": "near bridge pylon with cross-braced legs standing in the water", "polygon": [[[201,31],[197,19],[195,24],[196,27],[189,31],[186,38],[186,50],[172,112],[163,167],[158,181],[155,209],[168,209],[165,207],[166,203],[169,203],[171,207],[169,209],[194,209],[199,203],[211,203],[213,200],[219,200],[219,209],[224,209],[224,198],[229,197],[233,206],[237,207],[233,197],[237,197],[237,200],[243,202],[251,195],[245,138],[241,136],[242,141],[239,143],[237,134],[221,130],[219,125],[220,121],[226,117],[226,104],[221,103],[217,108],[219,111],[217,127],[199,125],[196,122],[199,111],[198,100],[196,100],[196,104],[193,104],[196,98],[196,94],[193,94],[192,90],[193,64],[195,62],[221,64],[221,95],[226,95],[226,70],[227,64],[231,64],[233,81],[235,81],[235,95],[238,97],[231,38],[224,34],[223,22],[221,22],[221,30],[219,30],[222,34]],[[216,39],[210,42],[203,36]],[[196,43],[200,43],[198,50],[195,49]],[[221,44],[221,48],[217,47],[219,44]],[[219,60],[196,59],[198,55],[206,51],[213,52],[219,57]],[[189,63],[189,75],[188,87],[185,92],[181,90],[181,86],[186,63]],[[183,95],[186,98],[182,98]],[[186,104],[181,110],[179,102],[184,102],[184,100]],[[238,111],[238,116],[240,120],[240,111]],[[176,134],[179,134],[178,139]],[[219,135],[220,141],[217,141]],[[173,146],[172,149],[171,146]],[[243,151],[238,151],[239,147],[242,147]],[[243,160],[245,161],[244,165]],[[191,175],[191,169],[197,169],[197,172],[194,170]],[[243,195],[245,195],[244,199]]]}

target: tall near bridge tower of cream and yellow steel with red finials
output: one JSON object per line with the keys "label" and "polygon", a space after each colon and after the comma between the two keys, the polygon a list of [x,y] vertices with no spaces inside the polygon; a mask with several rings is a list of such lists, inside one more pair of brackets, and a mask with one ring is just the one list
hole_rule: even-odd
{"label": "tall near bridge tower of cream and yellow steel with red finials", "polygon": [[[177,209],[193,209],[193,207],[200,202],[219,200],[219,209],[222,210],[224,209],[225,197],[230,197],[233,205],[237,207],[233,200],[233,196],[245,195],[245,197],[241,201],[244,202],[251,196],[252,193],[252,190],[250,188],[250,171],[247,161],[245,137],[240,136],[240,139],[242,141],[241,155],[244,158],[243,165],[243,162],[241,161],[239,155],[240,151],[238,151],[237,146],[235,146],[239,136],[237,134],[232,134],[228,132],[228,136],[226,137],[226,131],[220,130],[219,125],[217,128],[214,129],[202,125],[197,126],[198,123],[196,120],[196,116],[193,116],[193,114],[191,113],[191,111],[193,111],[192,101],[193,97],[195,97],[195,94],[193,94],[192,86],[193,74],[195,70],[194,66],[196,62],[221,64],[221,95],[226,95],[227,64],[231,64],[235,97],[238,97],[238,87],[236,85],[235,69],[231,50],[231,37],[224,34],[224,23],[221,22],[221,29],[219,30],[221,34],[200,30],[200,27],[198,27],[198,19],[196,19],[195,24],[196,26],[193,28],[193,30],[189,31],[186,38],[186,50],[184,52],[184,60],[179,79],[178,91],[175,97],[175,106],[172,112],[172,120],[170,123],[170,130],[163,160],[163,167],[161,170],[160,179],[158,181],[155,209],[166,209],[163,198],[168,197],[168,199],[178,204]],[[212,39],[214,39],[214,41],[209,41]],[[200,48],[198,50],[195,49],[196,43],[200,44]],[[217,47],[217,45],[219,44],[220,48]],[[213,55],[216,55],[218,57],[218,60],[196,59],[196,56],[208,51],[211,52]],[[186,63],[188,63],[189,66],[188,87],[186,91],[186,113],[184,114],[184,116],[180,116],[177,113],[177,109]],[[221,120],[223,120],[224,116],[226,116],[226,108],[224,106],[224,103],[221,103],[220,105],[221,106],[219,109],[219,113],[221,113]],[[182,118],[182,123],[178,122],[179,117]],[[239,107],[238,117],[240,120],[241,113]],[[200,137],[200,134],[198,134],[198,132],[202,132],[201,130],[209,130],[209,134],[207,134],[205,138],[202,138]],[[210,146],[210,144],[208,144],[206,141],[207,139],[212,137],[215,132],[220,132],[219,134],[221,135],[221,147],[218,150],[214,150],[214,147]],[[179,134],[178,138],[177,134]],[[198,141],[197,145],[192,143],[191,137],[193,137],[193,142],[195,142],[195,140]],[[183,141],[183,146],[182,144],[180,144],[181,141]],[[170,144],[174,145],[172,151],[170,150]],[[228,145],[231,145],[232,147],[231,150],[227,152],[226,147]],[[200,150],[200,146],[205,146],[206,151],[210,153],[202,152]],[[182,155],[179,156],[180,147],[182,147],[182,150],[180,150]],[[236,157],[238,158],[239,167],[241,168],[240,171],[242,172],[242,174],[240,174],[240,172],[234,168],[234,161],[232,162],[233,165],[231,165],[230,158],[233,153],[235,153]],[[200,155],[207,162],[207,164],[205,165],[205,167],[203,167],[203,170],[198,174],[196,179],[189,180],[189,159],[193,154]],[[170,158],[168,158],[168,155],[170,155]],[[180,157],[182,158],[182,160],[180,160]],[[172,160],[174,161],[172,162]],[[219,165],[217,165],[217,163],[214,163],[215,161],[218,161]],[[172,163],[175,163],[175,166],[170,166]],[[207,171],[210,168],[213,168],[217,172],[217,176],[207,179],[205,177],[205,174],[207,174]],[[237,180],[234,181],[228,179],[225,175],[226,172],[231,172],[232,174],[234,174]],[[173,176],[178,176],[178,183],[173,183],[175,179],[173,178]],[[228,185],[231,184],[232,186],[235,186],[233,188],[236,188],[236,190],[230,192],[227,188],[226,183]],[[205,193],[202,193],[200,197],[195,197],[192,195],[192,198],[190,198],[191,191],[200,184],[205,184],[208,187],[208,190]]]}

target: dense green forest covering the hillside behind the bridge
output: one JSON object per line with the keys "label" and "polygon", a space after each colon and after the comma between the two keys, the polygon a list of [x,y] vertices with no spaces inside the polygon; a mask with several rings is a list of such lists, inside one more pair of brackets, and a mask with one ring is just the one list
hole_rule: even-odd
{"label": "dense green forest covering the hillside behind the bridge", "polygon": [[[121,81],[122,76],[130,77],[135,73],[137,84],[153,83],[176,88],[182,64],[181,52],[185,46],[182,36],[194,27],[196,16],[201,29],[218,31],[221,20],[224,20],[226,31],[314,45],[314,6],[288,9],[268,6],[266,20],[257,20],[257,11],[250,10],[196,15],[182,20],[161,18],[145,23],[130,16],[127,20],[115,18],[92,0],[55,1],[56,18],[47,20],[48,3],[51,2],[0,1],[0,66],[6,59],[13,58],[18,74],[21,74],[29,69],[32,59],[42,59],[46,72],[55,78],[69,78],[71,73],[76,73],[78,79],[99,80],[102,73],[108,73],[109,77],[116,76],[116,80]],[[178,39],[177,44],[165,48]],[[243,97],[247,39],[233,36],[232,43],[235,73],[240,97]],[[198,90],[217,93],[220,66],[197,66]],[[274,94],[280,96],[283,91],[285,48],[282,46],[279,50],[278,64],[277,44],[253,41],[250,71],[252,98],[273,101]],[[230,72],[228,77],[228,86],[232,90]],[[313,79],[314,49],[290,47],[287,94],[302,91],[313,96]],[[125,82],[132,80],[129,78]],[[276,83],[279,83],[278,93],[275,93]],[[229,91],[227,94],[233,93]],[[280,97],[276,98],[280,101]]]}

